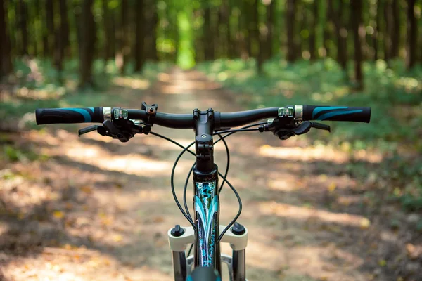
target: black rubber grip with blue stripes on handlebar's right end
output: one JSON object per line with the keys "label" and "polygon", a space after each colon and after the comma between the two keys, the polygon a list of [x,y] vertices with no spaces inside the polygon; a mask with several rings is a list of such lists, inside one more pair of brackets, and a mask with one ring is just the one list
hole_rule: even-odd
{"label": "black rubber grip with blue stripes on handlebar's right end", "polygon": [[303,120],[369,123],[371,107],[303,105]]}

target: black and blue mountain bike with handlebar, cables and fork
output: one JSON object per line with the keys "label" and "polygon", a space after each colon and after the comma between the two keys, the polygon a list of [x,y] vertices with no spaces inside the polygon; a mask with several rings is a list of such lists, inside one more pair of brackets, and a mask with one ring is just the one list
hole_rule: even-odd
{"label": "black and blue mountain bike with handlebar, cables and fork", "polygon": [[[37,109],[35,113],[38,125],[102,123],[102,125],[79,129],[79,136],[97,131],[102,136],[127,142],[136,133],[151,133],[183,149],[174,162],[170,185],[177,207],[191,226],[176,225],[167,232],[172,250],[174,280],[177,281],[221,281],[219,276],[222,273],[222,262],[226,263],[229,269],[229,280],[246,280],[245,249],[248,244],[248,228],[237,222],[242,210],[241,198],[233,185],[226,179],[230,163],[226,137],[241,131],[269,131],[281,140],[286,140],[292,136],[307,133],[311,128],[331,131],[330,126],[312,122],[313,120],[369,123],[371,119],[371,107],[315,105],[288,105],[229,113],[209,108],[205,111],[195,109],[191,114],[171,114],[158,112],[158,105],[147,105],[143,102],[141,110],[122,109],[121,107],[41,108]],[[267,118],[269,118],[267,121],[251,124]],[[184,147],[170,138],[151,131],[154,124],[173,129],[194,129],[195,141]],[[239,126],[243,127],[231,129]],[[213,141],[213,136],[218,136],[219,139]],[[224,143],[227,154],[224,175],[218,171],[218,167],[214,163],[214,145],[219,141]],[[192,145],[195,145],[195,152],[189,150]],[[174,170],[185,152],[194,155],[196,162],[189,171],[184,185],[183,208],[174,190]],[[186,189],[191,174],[193,174],[194,188],[194,219],[192,219],[186,203]],[[222,178],[220,186],[218,185],[218,176]],[[224,183],[229,185],[239,204],[238,213],[227,226],[219,224],[219,193],[222,191]],[[221,232],[220,228],[223,229]],[[221,254],[221,242],[230,244],[231,256]],[[186,257],[188,244],[191,244],[191,247]],[[191,255],[193,247],[193,255]]]}

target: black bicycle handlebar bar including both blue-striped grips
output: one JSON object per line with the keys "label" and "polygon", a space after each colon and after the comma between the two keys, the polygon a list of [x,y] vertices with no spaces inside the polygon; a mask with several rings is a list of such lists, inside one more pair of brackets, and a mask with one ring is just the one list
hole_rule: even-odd
{"label": "black bicycle handlebar bar including both blue-striped grips", "polygon": [[[69,123],[102,123],[104,120],[113,119],[113,107],[84,107],[84,108],[39,108],[35,111],[37,124],[69,124]],[[146,110],[124,110],[124,118],[143,120],[148,119]],[[286,107],[267,107],[256,110],[240,112],[213,113],[215,128],[231,128],[243,126],[261,119],[276,118],[280,116],[293,117],[297,121],[329,120],[366,122],[371,119],[371,107],[345,107],[345,106],[316,106],[292,105]],[[157,112],[154,122],[160,126],[174,129],[192,129],[194,117],[191,114],[172,114]]]}

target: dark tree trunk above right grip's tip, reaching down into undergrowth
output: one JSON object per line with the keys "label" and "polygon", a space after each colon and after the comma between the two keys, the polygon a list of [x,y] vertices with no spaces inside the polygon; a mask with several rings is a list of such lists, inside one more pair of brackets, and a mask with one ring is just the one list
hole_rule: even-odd
{"label": "dark tree trunk above right grip's tip, reaching down into undergrowth", "polygon": [[[365,36],[362,22],[362,0],[350,1],[351,22],[354,39],[354,79],[357,82],[357,90],[363,89],[362,77],[362,37]],[[363,31],[362,31],[363,29]]]}

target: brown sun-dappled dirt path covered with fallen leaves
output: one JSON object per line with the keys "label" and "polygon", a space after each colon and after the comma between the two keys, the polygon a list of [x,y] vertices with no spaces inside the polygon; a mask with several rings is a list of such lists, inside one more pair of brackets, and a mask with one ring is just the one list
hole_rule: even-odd
{"label": "brown sun-dappled dirt path covered with fallen leaves", "polygon": [[[118,93],[125,107],[158,103],[164,112],[242,110],[233,93],[196,71],[160,73],[146,91],[128,85],[104,95]],[[193,140],[192,131],[153,130],[184,145]],[[177,146],[151,135],[129,143],[96,133],[78,138],[74,126],[61,125],[1,141],[38,155],[0,160],[4,280],[172,280],[167,230],[187,225],[170,190]],[[361,183],[347,173],[349,154],[271,133],[237,133],[227,142],[229,180],[243,202],[238,221],[249,230],[248,280],[422,280],[420,216],[371,204],[364,190],[374,179]],[[221,144],[215,159],[224,171]],[[359,159],[366,169],[383,161],[372,153]],[[180,198],[192,161],[179,162]],[[220,221],[228,223],[236,197],[225,187],[220,202]]]}

